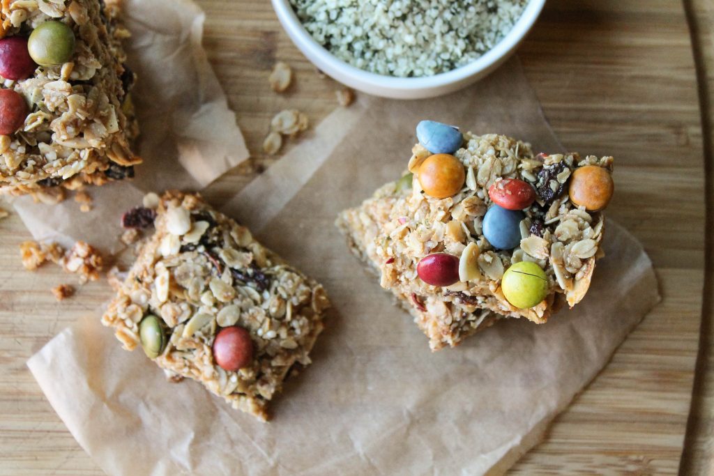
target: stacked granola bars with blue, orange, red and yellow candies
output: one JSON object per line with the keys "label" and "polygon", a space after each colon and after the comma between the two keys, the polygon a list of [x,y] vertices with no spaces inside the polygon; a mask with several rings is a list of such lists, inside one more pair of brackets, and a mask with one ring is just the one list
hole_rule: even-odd
{"label": "stacked granola bars with blue, orange, red and yellow candies", "polygon": [[506,136],[430,127],[418,129],[410,172],[341,213],[337,226],[431,348],[501,317],[545,323],[578,303],[602,254],[613,159],[536,155]]}

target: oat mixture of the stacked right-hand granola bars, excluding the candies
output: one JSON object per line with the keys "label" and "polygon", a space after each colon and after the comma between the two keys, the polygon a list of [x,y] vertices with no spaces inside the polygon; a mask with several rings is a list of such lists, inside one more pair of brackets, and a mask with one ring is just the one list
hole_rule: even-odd
{"label": "oat mixture of the stacked right-hand granola bars, excluding the candies", "polygon": [[[613,158],[535,155],[528,143],[513,138],[465,133],[453,153],[464,168],[463,186],[453,196],[434,198],[418,178],[432,155],[414,146],[410,173],[360,207],[343,211],[336,224],[353,252],[378,271],[382,287],[415,316],[433,350],[457,345],[501,317],[545,323],[560,305],[572,307],[585,296],[595,258],[602,254],[604,217],[570,201],[568,183],[573,171],[585,166],[609,172]],[[495,248],[483,233],[483,218],[493,206],[489,188],[505,178],[530,184],[536,195],[517,223],[520,243],[508,250]],[[428,284],[417,267],[432,253],[453,255],[460,268],[472,260],[473,269],[451,285]],[[522,261],[536,263],[547,281],[544,298],[528,308],[509,302],[501,286],[505,271]]]}

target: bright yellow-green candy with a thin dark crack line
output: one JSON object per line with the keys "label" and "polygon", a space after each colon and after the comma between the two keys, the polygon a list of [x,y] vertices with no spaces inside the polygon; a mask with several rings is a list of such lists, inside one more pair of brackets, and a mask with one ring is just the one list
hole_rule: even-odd
{"label": "bright yellow-green candy with a thin dark crack line", "polygon": [[516,308],[532,308],[548,295],[548,277],[537,264],[521,261],[503,273],[501,289]]}

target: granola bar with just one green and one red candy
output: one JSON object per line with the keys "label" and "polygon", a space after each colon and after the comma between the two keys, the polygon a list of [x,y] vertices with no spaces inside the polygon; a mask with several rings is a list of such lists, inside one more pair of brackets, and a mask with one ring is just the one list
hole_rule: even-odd
{"label": "granola bar with just one green and one red candy", "polygon": [[154,226],[102,323],[173,380],[267,420],[291,368],[310,363],[325,291],[196,195],[166,193]]}

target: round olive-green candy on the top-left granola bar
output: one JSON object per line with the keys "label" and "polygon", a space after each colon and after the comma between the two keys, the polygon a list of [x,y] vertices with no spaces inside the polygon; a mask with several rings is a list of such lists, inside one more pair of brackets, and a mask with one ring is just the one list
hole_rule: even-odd
{"label": "round olive-green candy on the top-left granola bar", "polygon": [[27,51],[36,64],[64,64],[74,54],[74,31],[61,21],[39,24],[27,40]]}

